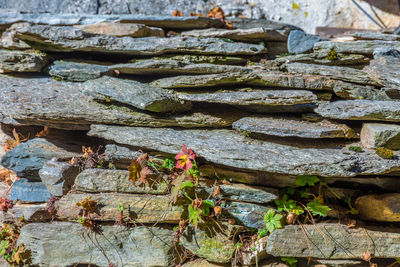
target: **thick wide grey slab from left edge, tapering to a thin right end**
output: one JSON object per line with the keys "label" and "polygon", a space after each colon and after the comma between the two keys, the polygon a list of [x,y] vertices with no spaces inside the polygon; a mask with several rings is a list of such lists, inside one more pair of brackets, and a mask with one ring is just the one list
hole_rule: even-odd
{"label": "thick wide grey slab from left edge, tapering to a thin right end", "polygon": [[127,107],[97,103],[83,93],[82,86],[81,83],[56,82],[49,78],[0,75],[0,120],[11,125],[87,130],[90,124],[98,122],[149,127],[225,127],[240,118],[237,113],[221,109],[150,115]]}

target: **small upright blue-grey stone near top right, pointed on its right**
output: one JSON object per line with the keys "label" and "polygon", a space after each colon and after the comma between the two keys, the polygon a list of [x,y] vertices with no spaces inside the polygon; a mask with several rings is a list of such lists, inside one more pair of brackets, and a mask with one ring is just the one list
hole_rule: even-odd
{"label": "small upright blue-grey stone near top right, pointed on its right", "polygon": [[306,34],[300,30],[293,30],[289,34],[287,48],[289,53],[301,54],[311,52],[314,44],[319,41],[326,40],[318,35]]}

